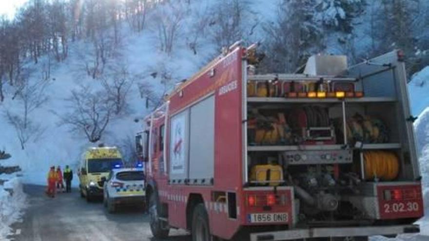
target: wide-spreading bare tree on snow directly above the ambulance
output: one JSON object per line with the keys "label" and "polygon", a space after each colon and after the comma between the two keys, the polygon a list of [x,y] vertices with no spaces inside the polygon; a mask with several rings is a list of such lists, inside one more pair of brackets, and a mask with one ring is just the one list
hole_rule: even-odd
{"label": "wide-spreading bare tree on snow directly above the ambulance", "polygon": [[71,132],[84,133],[92,143],[100,140],[115,112],[106,93],[92,92],[81,86],[79,90],[73,90],[66,101],[71,111],[60,116],[60,124],[69,126]]}

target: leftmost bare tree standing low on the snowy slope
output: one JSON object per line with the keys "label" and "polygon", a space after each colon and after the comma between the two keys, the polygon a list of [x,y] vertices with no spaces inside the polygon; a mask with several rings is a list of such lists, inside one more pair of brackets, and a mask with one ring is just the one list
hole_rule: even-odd
{"label": "leftmost bare tree standing low on the snowy slope", "polygon": [[21,72],[19,85],[12,99],[18,101],[18,107],[15,110],[6,110],[4,115],[9,124],[14,127],[17,137],[20,141],[21,148],[25,148],[25,144],[31,140],[37,140],[43,133],[41,125],[36,123],[31,118],[31,113],[39,109],[48,97],[45,95],[44,90],[48,82],[41,80],[35,83],[30,82],[31,70],[25,69]]}

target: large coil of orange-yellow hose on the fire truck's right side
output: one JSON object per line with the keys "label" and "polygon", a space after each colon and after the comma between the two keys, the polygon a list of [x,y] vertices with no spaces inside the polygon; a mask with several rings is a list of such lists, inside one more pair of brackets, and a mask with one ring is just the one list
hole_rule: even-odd
{"label": "large coil of orange-yellow hose on the fire truck's right side", "polygon": [[390,151],[374,150],[364,152],[365,177],[383,181],[394,180],[399,173],[398,157]]}

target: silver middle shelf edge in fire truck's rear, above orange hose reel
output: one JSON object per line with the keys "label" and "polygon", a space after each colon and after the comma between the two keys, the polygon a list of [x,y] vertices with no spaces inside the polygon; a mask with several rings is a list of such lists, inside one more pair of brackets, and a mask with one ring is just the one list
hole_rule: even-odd
{"label": "silver middle shelf edge in fire truck's rear, above orange hose reel", "polygon": [[[344,145],[303,145],[303,146],[248,146],[248,151],[289,151],[289,150],[338,150],[344,148]],[[364,144],[362,149],[398,149],[401,148],[399,143],[383,144]]]}

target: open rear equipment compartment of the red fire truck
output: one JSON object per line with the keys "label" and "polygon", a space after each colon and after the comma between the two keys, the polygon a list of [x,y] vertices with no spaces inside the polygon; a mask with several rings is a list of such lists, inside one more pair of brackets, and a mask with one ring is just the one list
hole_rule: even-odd
{"label": "open rear equipment compartment of the red fire truck", "polygon": [[[248,77],[248,185],[270,186],[273,192],[279,186],[293,187],[297,227],[371,225],[392,218],[396,224],[409,223],[407,219],[422,215],[421,195],[409,202],[403,197],[421,190],[413,182],[409,152],[413,147],[404,128],[394,69],[362,68],[360,73],[368,76],[351,85],[364,95],[350,94],[351,98],[347,93],[346,98],[327,98],[334,80],[322,77],[307,83]],[[354,71],[359,72],[349,73]],[[315,89],[309,91],[308,83]],[[347,88],[348,82],[343,83]],[[380,186],[391,188],[378,193]],[[395,192],[401,194],[393,211]]]}

